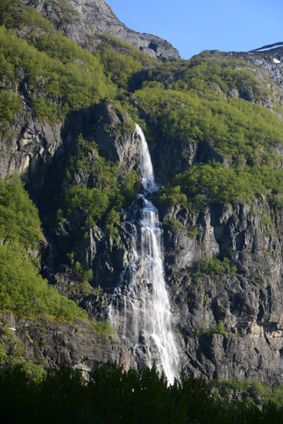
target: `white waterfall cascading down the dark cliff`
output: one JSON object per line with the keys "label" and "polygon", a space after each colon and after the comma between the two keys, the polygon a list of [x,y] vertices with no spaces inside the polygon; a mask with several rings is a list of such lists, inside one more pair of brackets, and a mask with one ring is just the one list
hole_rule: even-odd
{"label": "white waterfall cascading down the dark cliff", "polygon": [[157,190],[147,142],[140,126],[140,167],[145,194],[138,194],[132,208],[131,232],[135,259],[121,274],[109,319],[121,341],[131,348],[140,367],[164,371],[169,384],[179,377],[179,353],[171,329],[169,296],[164,281],[162,228],[157,208],[146,194]]}

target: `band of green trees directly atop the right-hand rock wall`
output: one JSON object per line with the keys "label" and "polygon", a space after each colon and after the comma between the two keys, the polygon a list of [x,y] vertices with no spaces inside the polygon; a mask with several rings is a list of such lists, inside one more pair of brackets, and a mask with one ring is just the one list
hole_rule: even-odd
{"label": "band of green trees directly atop the right-hand rock wall", "polygon": [[[172,198],[171,193],[178,192]],[[186,194],[187,201],[181,197]],[[283,199],[283,170],[267,165],[225,167],[222,163],[199,163],[159,191],[159,201],[165,204],[185,204],[193,211],[217,203],[245,204],[255,196],[265,194],[270,203],[279,208]]]}

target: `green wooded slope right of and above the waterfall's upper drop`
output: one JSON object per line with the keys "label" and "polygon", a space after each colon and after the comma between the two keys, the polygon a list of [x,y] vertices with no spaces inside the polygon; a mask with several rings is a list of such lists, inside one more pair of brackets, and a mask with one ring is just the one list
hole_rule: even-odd
{"label": "green wooded slope right of and above the waterfall's upper drop", "polygon": [[282,207],[275,146],[283,143],[283,122],[261,105],[267,102],[282,114],[276,91],[263,72],[230,57],[204,53],[150,69],[135,101],[155,119],[153,137],[195,141],[207,151],[200,159],[207,163],[195,163],[162,187],[159,204],[199,211],[265,194],[275,209]]}

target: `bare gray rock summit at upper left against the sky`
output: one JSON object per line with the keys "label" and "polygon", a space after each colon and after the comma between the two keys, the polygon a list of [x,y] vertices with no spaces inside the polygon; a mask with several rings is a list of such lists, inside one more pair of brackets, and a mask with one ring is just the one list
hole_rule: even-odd
{"label": "bare gray rock summit at upper left against the sky", "polygon": [[[28,6],[36,7],[43,16],[56,23],[66,37],[78,45],[95,50],[95,32],[109,33],[138,47],[150,57],[161,60],[180,59],[178,51],[166,40],[156,35],[136,33],[121,23],[104,0],[68,0],[66,5],[59,0],[22,0]],[[66,9],[66,10],[65,10]],[[67,16],[67,18],[66,18]]]}

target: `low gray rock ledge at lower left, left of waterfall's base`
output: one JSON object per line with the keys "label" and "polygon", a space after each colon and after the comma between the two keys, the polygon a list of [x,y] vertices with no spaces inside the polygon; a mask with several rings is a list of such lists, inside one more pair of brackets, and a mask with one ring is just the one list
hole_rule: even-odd
{"label": "low gray rock ledge at lower left, left of waterfall's base", "polygon": [[[50,322],[48,318],[35,322],[13,314],[1,314],[0,340],[12,358],[24,356],[25,360],[45,368],[62,363],[88,374],[108,361],[116,362],[125,370],[131,367],[131,355],[124,346],[81,320],[71,325]],[[17,352],[14,346],[20,346],[22,351]]]}

